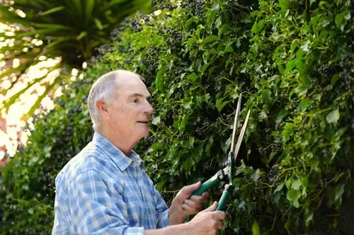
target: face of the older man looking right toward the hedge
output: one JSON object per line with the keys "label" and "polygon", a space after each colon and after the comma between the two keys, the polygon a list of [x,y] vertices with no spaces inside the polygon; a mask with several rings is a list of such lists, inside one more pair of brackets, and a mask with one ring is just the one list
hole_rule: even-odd
{"label": "face of the older man looking right toward the hedge", "polygon": [[149,91],[135,74],[118,79],[118,88],[108,105],[108,126],[113,134],[119,134],[136,143],[149,135],[149,119],[153,108],[149,104]]}

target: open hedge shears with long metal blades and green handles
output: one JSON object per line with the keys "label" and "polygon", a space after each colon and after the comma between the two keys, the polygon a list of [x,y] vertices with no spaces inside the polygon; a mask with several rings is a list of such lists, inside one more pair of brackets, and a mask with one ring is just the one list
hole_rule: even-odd
{"label": "open hedge shears with long metal blades and green handles", "polygon": [[[202,183],[200,188],[198,190],[195,190],[192,195],[202,195],[207,190],[210,190],[210,188],[214,187],[215,185],[224,182],[224,190],[222,192],[222,196],[220,197],[219,203],[217,205],[217,210],[223,210],[225,203],[227,202],[229,195],[232,193],[232,190],[234,190],[234,175],[233,175],[233,169],[234,169],[234,162],[236,161],[237,154],[239,154],[239,149],[241,147],[241,142],[244,139],[244,134],[246,132],[247,128],[247,122],[249,122],[249,115],[251,113],[251,110],[246,115],[246,120],[244,121],[244,125],[241,128],[241,132],[239,134],[239,139],[236,142],[236,127],[237,127],[237,121],[239,119],[239,114],[241,110],[241,95],[239,97],[239,101],[237,102],[237,108],[236,108],[236,114],[235,114],[235,119],[234,119],[234,130],[232,131],[232,142],[231,142],[231,149],[229,151],[229,155],[227,156],[227,164],[224,168],[220,169],[215,173],[212,178],[209,180],[205,181]],[[236,144],[235,144],[236,142]]]}

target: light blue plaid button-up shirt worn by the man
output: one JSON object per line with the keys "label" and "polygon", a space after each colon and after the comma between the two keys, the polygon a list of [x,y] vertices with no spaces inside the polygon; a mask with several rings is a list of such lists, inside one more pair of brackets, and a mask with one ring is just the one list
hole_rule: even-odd
{"label": "light blue plaid button-up shirt worn by the man", "polygon": [[143,170],[100,134],[59,172],[52,234],[144,234],[169,225],[169,209]]}

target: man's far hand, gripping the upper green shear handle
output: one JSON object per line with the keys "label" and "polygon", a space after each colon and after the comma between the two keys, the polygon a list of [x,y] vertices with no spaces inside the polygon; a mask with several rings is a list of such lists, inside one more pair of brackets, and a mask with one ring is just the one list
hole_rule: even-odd
{"label": "man's far hand, gripping the upper green shear handle", "polygon": [[201,196],[192,195],[202,185],[201,182],[184,186],[173,199],[169,210],[170,224],[181,224],[187,215],[197,214],[202,210],[202,204],[207,202],[209,193],[205,192]]}

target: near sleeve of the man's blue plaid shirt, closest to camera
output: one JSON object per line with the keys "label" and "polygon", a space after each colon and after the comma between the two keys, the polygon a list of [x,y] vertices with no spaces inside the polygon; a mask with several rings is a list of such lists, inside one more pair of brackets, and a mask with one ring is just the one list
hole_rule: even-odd
{"label": "near sleeve of the man's blue plaid shirt, closest to camera", "polygon": [[143,227],[129,227],[125,219],[122,188],[96,170],[76,176],[68,189],[75,234],[143,235]]}

